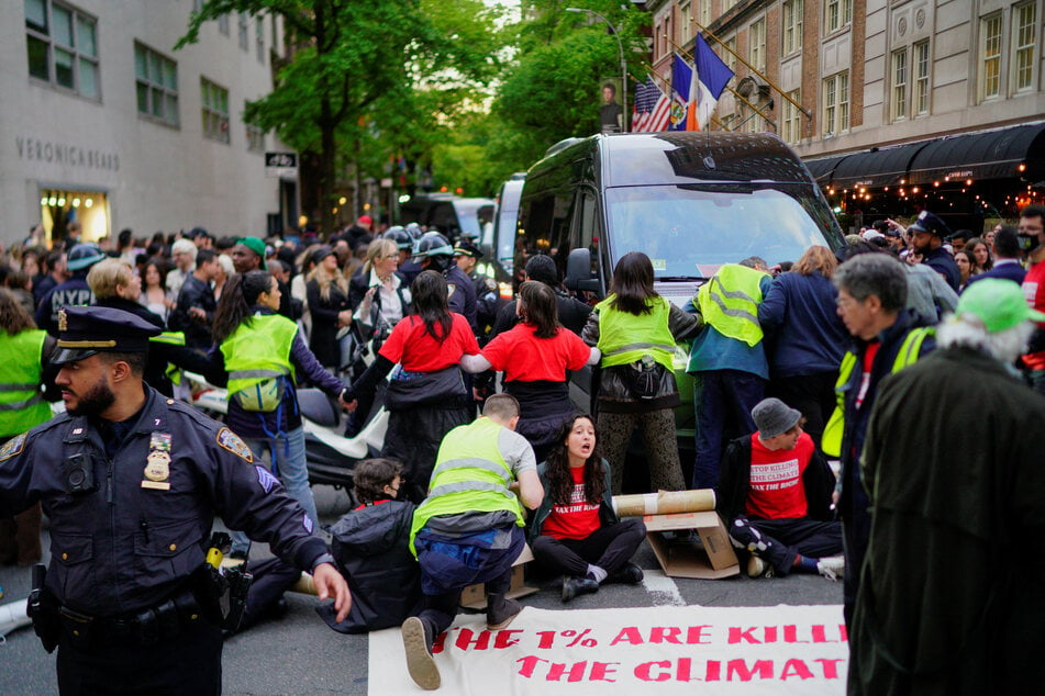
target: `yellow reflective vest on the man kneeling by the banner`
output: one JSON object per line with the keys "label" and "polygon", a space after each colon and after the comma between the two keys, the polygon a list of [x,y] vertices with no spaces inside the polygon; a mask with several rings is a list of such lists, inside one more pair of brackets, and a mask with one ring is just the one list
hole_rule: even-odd
{"label": "yellow reflective vest on the man kneeling by the banner", "polygon": [[489,418],[479,418],[454,428],[443,438],[429,483],[429,497],[413,514],[410,550],[414,555],[414,539],[432,517],[508,510],[515,514],[516,525],[525,524],[522,505],[509,490],[515,475],[498,447],[503,427]]}

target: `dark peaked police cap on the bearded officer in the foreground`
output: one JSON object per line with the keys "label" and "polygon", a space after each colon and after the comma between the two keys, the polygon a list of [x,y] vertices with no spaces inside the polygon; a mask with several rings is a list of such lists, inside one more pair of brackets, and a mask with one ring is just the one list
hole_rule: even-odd
{"label": "dark peaked police cap on the bearded officer in the foreground", "polygon": [[159,327],[112,307],[63,307],[58,311],[58,353],[53,364],[66,364],[98,352],[145,352]]}

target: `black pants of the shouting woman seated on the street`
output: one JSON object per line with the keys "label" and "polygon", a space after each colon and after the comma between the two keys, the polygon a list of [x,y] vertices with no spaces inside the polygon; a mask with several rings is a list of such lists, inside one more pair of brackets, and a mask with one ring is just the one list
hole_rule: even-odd
{"label": "black pants of the shouting woman seated on the street", "polygon": [[646,538],[646,526],[637,517],[600,527],[586,539],[537,537],[530,549],[542,565],[566,575],[583,577],[588,565],[598,565],[612,575],[624,566]]}

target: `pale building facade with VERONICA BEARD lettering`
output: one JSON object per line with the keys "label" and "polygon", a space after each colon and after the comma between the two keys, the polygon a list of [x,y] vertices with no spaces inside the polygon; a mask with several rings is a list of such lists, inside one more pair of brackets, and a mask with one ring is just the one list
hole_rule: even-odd
{"label": "pale building facade with VERONICA BEARD lettering", "polygon": [[[77,220],[85,240],[296,224],[293,181],[266,176],[273,134],[244,123],[286,56],[247,13],[174,45],[199,0],[16,0],[0,23],[0,242]],[[286,173],[286,172],[285,172]]]}

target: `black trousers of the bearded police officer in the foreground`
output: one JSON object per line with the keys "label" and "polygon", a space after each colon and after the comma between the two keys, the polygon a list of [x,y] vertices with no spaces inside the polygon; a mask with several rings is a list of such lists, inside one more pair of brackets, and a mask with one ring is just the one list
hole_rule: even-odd
{"label": "black trousers of the bearded police officer in the foreground", "polygon": [[136,636],[81,644],[64,633],[58,641],[58,691],[63,696],[220,694],[221,648],[221,631],[205,621],[148,646]]}

